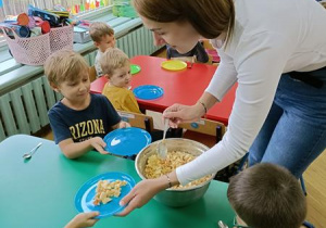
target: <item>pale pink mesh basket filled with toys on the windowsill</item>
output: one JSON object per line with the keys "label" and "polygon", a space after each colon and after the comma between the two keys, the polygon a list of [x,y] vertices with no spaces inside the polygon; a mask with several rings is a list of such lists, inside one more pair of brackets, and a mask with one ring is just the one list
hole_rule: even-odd
{"label": "pale pink mesh basket filled with toys on the windowsill", "polygon": [[63,9],[40,10],[28,5],[28,14],[9,16],[0,23],[10,53],[18,63],[42,65],[61,49],[73,49],[73,26]]}

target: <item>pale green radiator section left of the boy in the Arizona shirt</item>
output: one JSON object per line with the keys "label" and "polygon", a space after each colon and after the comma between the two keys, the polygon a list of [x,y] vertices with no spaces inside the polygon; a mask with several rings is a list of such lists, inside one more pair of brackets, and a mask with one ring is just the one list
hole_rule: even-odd
{"label": "pale green radiator section left of the boy in the Arizona shirt", "polygon": [[0,141],[34,134],[49,124],[48,111],[62,96],[41,76],[0,97]]}

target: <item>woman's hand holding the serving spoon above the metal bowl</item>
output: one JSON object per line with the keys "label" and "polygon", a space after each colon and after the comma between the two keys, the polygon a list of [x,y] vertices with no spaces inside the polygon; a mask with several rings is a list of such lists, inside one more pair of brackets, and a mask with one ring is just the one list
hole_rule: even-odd
{"label": "woman's hand holding the serving spoon above the metal bowl", "polygon": [[177,128],[180,123],[197,122],[204,113],[200,103],[195,105],[173,104],[163,112],[163,117],[170,119],[171,127]]}

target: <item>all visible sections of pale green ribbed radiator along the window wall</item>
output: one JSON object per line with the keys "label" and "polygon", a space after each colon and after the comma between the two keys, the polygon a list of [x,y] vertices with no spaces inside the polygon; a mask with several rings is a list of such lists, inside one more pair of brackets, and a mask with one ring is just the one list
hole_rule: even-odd
{"label": "all visible sections of pale green ribbed radiator along the window wall", "polygon": [[[121,37],[116,47],[129,58],[149,55],[159,48],[153,46],[150,30],[143,26]],[[93,65],[96,51],[85,55]],[[61,99],[41,76],[0,97],[0,141],[16,134],[35,134],[49,124],[48,111]]]}

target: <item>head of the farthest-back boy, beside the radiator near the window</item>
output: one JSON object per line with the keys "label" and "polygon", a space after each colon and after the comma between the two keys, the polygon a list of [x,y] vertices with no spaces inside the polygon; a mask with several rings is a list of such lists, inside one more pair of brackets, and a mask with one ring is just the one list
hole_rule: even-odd
{"label": "head of the farthest-back boy, beside the radiator near the window", "polygon": [[93,45],[100,49],[101,52],[109,48],[114,48],[115,37],[114,30],[103,22],[95,22],[89,26],[89,35]]}

